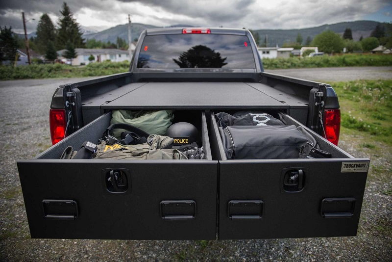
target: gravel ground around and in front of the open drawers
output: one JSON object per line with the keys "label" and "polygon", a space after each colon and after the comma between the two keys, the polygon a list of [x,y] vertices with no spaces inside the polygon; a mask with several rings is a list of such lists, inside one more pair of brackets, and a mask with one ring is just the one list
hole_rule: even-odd
{"label": "gravel ground around and in front of the open drawers", "polygon": [[[77,79],[0,82],[1,261],[392,261],[391,148],[359,148],[365,137],[341,135],[340,146],[371,157],[358,236],[329,238],[138,241],[30,239],[16,159],[50,146],[48,111],[60,83]],[[34,137],[34,139],[32,139]]]}

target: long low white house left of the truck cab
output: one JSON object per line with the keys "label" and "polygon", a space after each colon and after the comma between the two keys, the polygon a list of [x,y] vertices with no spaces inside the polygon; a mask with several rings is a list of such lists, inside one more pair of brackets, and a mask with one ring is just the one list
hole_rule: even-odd
{"label": "long low white house left of the truck cab", "polygon": [[[57,51],[59,59],[67,60],[63,53],[66,50]],[[75,48],[76,58],[72,59],[72,65],[87,65],[91,62],[103,62],[106,60],[110,60],[112,62],[121,62],[128,60],[130,61],[131,58],[129,57],[129,52],[126,50],[120,49],[86,49],[86,48]],[[90,55],[94,56],[94,60],[90,61]]]}

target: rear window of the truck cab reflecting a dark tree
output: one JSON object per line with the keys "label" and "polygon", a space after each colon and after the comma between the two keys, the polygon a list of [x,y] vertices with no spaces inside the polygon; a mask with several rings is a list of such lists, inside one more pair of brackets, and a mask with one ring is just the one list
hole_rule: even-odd
{"label": "rear window of the truck cab reflecting a dark tree", "polygon": [[245,35],[167,34],[146,36],[137,68],[255,68]]}

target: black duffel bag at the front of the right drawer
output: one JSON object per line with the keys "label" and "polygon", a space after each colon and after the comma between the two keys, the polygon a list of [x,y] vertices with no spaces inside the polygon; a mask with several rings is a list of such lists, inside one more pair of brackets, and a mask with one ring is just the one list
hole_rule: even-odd
{"label": "black duffel bag at the front of the right drawer", "polygon": [[310,133],[294,125],[228,126],[219,131],[227,159],[330,157]]}

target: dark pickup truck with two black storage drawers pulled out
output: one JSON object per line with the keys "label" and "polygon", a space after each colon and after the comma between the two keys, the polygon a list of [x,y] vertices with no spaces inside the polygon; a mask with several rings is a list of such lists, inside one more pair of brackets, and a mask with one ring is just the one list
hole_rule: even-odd
{"label": "dark pickup truck with two black storage drawers pulled out", "polygon": [[[112,110],[175,110],[200,131],[205,159],[60,159],[98,143]],[[214,117],[258,110],[307,130],[330,158],[227,159]],[[337,146],[339,101],[326,84],[264,72],[248,30],[154,28],[126,73],[60,85],[53,146],[18,170],[32,238],[254,239],[355,236],[369,159]],[[111,192],[111,171],[127,190]],[[286,190],[284,176],[300,171]]]}

